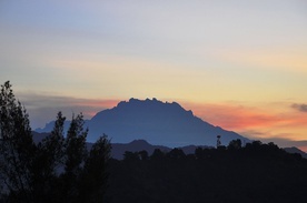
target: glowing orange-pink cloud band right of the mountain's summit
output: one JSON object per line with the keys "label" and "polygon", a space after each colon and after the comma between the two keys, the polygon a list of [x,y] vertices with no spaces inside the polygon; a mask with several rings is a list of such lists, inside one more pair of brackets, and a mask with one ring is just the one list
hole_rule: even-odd
{"label": "glowing orange-pink cloud band right of the mountain's summit", "polygon": [[306,128],[307,114],[293,111],[290,105],[283,108],[273,104],[265,108],[244,106],[234,103],[185,103],[197,116],[221,128],[245,131],[247,129],[293,129]]}

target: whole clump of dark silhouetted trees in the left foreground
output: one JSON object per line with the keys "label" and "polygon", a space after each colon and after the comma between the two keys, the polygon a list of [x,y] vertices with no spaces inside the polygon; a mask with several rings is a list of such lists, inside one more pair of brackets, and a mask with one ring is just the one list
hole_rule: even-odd
{"label": "whole clump of dark silhouetted trees in the left foreground", "polygon": [[34,144],[26,109],[9,82],[1,85],[0,97],[0,202],[102,202],[110,158],[107,136],[88,152],[82,114],[72,118],[65,136],[66,118],[59,112],[51,134]]}

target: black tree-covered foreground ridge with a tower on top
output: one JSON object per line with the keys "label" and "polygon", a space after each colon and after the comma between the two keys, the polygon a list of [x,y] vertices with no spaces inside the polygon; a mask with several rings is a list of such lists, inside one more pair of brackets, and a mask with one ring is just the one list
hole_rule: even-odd
{"label": "black tree-covered foreground ridge with a tower on top", "polygon": [[307,160],[274,143],[241,148],[126,152],[110,160],[106,201],[112,203],[305,202]]}

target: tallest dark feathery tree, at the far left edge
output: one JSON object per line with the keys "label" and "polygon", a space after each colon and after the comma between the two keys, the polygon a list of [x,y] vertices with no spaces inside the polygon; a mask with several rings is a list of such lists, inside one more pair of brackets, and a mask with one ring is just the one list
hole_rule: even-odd
{"label": "tallest dark feathery tree, at the far left edge", "polygon": [[1,85],[0,94],[0,179],[12,202],[31,202],[31,166],[36,146],[29,115],[16,100],[11,84]]}

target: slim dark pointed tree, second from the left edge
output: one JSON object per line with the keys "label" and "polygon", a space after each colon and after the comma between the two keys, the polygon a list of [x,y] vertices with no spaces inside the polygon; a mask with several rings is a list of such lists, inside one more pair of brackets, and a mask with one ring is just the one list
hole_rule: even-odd
{"label": "slim dark pointed tree, second from the left edge", "polygon": [[66,118],[59,112],[50,135],[37,145],[33,158],[33,196],[37,202],[58,202],[59,171],[63,165],[63,123]]}

